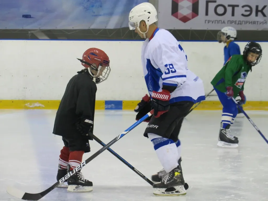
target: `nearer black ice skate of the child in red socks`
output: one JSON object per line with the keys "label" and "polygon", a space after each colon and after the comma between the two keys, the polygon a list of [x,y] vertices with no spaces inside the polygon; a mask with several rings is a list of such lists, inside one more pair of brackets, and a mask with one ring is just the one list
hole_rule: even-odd
{"label": "nearer black ice skate of the child in red socks", "polygon": [[[70,165],[67,165],[68,172],[70,172]],[[80,172],[76,172],[68,179],[68,192],[91,192],[93,190],[92,182],[85,179],[83,174]]]}

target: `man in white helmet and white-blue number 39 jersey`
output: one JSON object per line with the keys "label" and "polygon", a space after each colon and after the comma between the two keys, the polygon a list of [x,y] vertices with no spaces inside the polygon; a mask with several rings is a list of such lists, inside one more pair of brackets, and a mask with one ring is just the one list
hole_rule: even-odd
{"label": "man in white helmet and white-blue number 39 jersey", "polygon": [[159,29],[157,11],[141,3],[129,13],[129,28],[141,38],[144,78],[150,96],[137,105],[136,119],[154,109],[144,136],[149,138],[163,170],[152,176],[155,195],[185,195],[178,140],[183,118],[194,103],[205,99],[202,80],[187,68],[187,55],[174,36]]}

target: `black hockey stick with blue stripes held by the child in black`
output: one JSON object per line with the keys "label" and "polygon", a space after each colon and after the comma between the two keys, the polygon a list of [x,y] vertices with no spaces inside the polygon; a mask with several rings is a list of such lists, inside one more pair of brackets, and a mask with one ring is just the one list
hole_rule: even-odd
{"label": "black hockey stick with blue stripes held by the child in black", "polygon": [[[93,134],[90,134],[96,142],[101,144],[101,146],[105,147],[106,144],[104,144],[98,137],[96,137]],[[128,162],[125,161],[120,155],[118,155],[116,152],[114,152],[111,148],[107,149],[111,154],[113,154],[116,158],[118,158],[121,162],[123,162],[126,166],[128,166],[130,169],[132,169],[136,174],[138,174],[140,177],[142,177],[145,181],[147,181],[148,184],[151,186],[154,184],[150,179],[148,179],[146,176],[144,176],[141,172],[139,172],[136,168],[134,168],[132,165],[130,165]],[[189,188],[188,184],[184,184],[185,190]]]}

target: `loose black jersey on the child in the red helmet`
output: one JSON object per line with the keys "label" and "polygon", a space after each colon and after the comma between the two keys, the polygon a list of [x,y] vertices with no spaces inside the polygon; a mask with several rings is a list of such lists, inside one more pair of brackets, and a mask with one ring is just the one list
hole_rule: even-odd
{"label": "loose black jersey on the child in the red helmet", "polygon": [[76,123],[82,116],[94,120],[96,91],[96,83],[88,70],[81,70],[73,76],[59,104],[53,134],[70,138],[81,136]]}

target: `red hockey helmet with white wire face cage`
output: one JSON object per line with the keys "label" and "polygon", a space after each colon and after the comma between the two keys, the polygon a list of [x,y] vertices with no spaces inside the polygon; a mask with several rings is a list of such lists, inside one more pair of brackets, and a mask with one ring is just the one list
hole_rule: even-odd
{"label": "red hockey helmet with white wire face cage", "polygon": [[96,84],[106,80],[110,74],[110,59],[108,55],[98,48],[86,50],[82,56],[81,64],[89,68],[89,72],[96,79]]}

